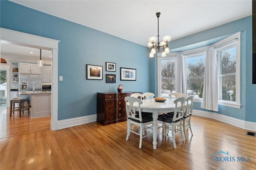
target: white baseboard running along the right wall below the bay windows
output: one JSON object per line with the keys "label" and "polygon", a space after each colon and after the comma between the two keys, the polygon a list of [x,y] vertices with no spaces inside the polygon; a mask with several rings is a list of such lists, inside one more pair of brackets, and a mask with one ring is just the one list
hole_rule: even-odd
{"label": "white baseboard running along the right wall below the bay windows", "polygon": [[221,114],[210,112],[210,111],[202,111],[202,110],[195,110],[195,109],[193,109],[192,115],[208,117],[208,118],[222,121],[224,123],[228,123],[230,125],[233,125],[245,130],[256,131],[256,122],[244,121],[241,119],[236,119],[234,117],[229,117],[226,115],[221,115]]}

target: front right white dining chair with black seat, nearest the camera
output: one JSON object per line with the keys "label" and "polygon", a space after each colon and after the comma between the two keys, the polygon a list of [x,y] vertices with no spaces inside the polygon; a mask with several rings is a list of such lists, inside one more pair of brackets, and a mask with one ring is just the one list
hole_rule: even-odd
{"label": "front right white dining chair with black seat, nearest the camera", "polygon": [[[172,137],[173,147],[176,149],[176,141],[175,135],[179,134],[182,137],[182,141],[184,141],[182,135],[182,118],[184,116],[184,103],[185,97],[180,97],[174,100],[175,109],[174,115],[162,114],[158,115],[157,123],[161,124],[158,128],[164,129],[164,133],[159,133],[166,137]],[[169,136],[169,131],[171,131],[172,136]]]}

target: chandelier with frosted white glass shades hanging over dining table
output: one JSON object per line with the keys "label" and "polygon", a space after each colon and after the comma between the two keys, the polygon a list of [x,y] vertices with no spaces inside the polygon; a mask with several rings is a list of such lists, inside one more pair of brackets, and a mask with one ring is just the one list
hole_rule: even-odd
{"label": "chandelier with frosted white glass shades hanging over dining table", "polygon": [[162,49],[162,57],[166,57],[166,54],[169,53],[169,47],[168,47],[168,43],[171,40],[171,36],[170,35],[166,35],[163,37],[163,41],[159,42],[159,17],[160,17],[160,12],[156,13],[156,17],[157,17],[157,23],[158,23],[158,42],[156,45],[156,37],[150,37],[148,39],[149,43],[148,43],[148,47],[151,49],[150,50],[150,54],[149,57],[154,57],[154,54],[156,54],[156,49],[158,49],[158,52],[160,51],[160,49]]}

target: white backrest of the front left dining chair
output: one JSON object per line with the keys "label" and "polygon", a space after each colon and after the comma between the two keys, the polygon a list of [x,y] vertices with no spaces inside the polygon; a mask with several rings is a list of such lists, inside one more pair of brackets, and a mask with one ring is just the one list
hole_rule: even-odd
{"label": "white backrest of the front left dining chair", "polygon": [[[126,115],[127,118],[130,119],[136,119],[140,122],[142,122],[142,116],[141,116],[141,109],[140,105],[143,103],[139,98],[134,98],[131,96],[126,96],[124,98],[125,100],[125,106],[126,106]],[[138,111],[136,111],[136,108],[134,107],[134,103],[138,102]],[[136,115],[139,114],[139,116],[136,117]]]}

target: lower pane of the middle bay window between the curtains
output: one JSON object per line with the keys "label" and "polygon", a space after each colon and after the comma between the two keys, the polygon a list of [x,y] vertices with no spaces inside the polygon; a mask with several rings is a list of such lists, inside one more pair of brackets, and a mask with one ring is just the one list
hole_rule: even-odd
{"label": "lower pane of the middle bay window between the curtains", "polygon": [[202,98],[204,78],[187,78],[187,94],[194,95],[194,98]]}

